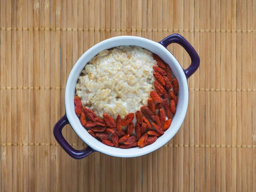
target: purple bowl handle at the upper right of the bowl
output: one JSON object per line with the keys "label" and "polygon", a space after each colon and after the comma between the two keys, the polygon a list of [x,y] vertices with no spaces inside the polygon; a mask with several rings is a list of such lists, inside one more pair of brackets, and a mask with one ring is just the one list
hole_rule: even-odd
{"label": "purple bowl handle at the upper right of the bowl", "polygon": [[192,45],[183,36],[179,34],[172,34],[164,38],[159,43],[163,45],[163,47],[165,47],[166,49],[169,44],[176,43],[181,45],[186,50],[186,52],[188,52],[191,58],[191,64],[187,69],[183,70],[187,79],[192,76],[193,73],[195,73],[195,71],[198,69],[200,64],[200,58],[194,47],[192,47]]}

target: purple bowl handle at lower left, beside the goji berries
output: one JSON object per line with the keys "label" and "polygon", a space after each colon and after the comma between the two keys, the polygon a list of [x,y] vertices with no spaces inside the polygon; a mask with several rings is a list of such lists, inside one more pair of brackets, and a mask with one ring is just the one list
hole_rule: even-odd
{"label": "purple bowl handle at lower left, beside the goji berries", "polygon": [[55,124],[53,128],[53,135],[57,142],[61,145],[61,147],[64,149],[64,151],[67,152],[71,157],[74,159],[82,159],[86,157],[87,155],[91,154],[94,152],[92,148],[89,146],[87,148],[84,148],[82,150],[76,150],[67,141],[62,135],[62,129],[64,128],[65,125],[69,124],[69,121],[67,119],[67,115],[65,114],[63,117],[61,117],[60,120]]}

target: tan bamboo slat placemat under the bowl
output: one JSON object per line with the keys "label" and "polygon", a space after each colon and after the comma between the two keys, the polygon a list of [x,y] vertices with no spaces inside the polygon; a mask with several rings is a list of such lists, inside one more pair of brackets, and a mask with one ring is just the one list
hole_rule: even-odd
{"label": "tan bamboo slat placemat under the bowl", "polygon": [[[256,192],[256,0],[1,0],[2,192]],[[200,69],[189,108],[164,147],[137,158],[73,160],[52,129],[68,74],[88,48],[180,33]],[[183,48],[169,47],[186,68]],[[74,148],[85,144],[67,126]]]}

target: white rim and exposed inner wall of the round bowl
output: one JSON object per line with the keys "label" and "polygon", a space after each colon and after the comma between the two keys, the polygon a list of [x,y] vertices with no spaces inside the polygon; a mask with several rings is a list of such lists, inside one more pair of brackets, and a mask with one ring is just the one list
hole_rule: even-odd
{"label": "white rim and exposed inner wall of the round bowl", "polygon": [[[104,49],[110,49],[113,47],[121,46],[121,45],[136,45],[148,49],[151,52],[156,53],[163,59],[167,64],[170,65],[172,69],[172,73],[177,78],[179,82],[179,96],[178,96],[178,104],[176,108],[176,114],[172,119],[172,124],[168,130],[165,131],[161,137],[159,137],[155,143],[145,146],[143,148],[129,148],[129,149],[122,149],[122,148],[114,148],[108,145],[101,143],[100,141],[96,140],[90,134],[88,134],[87,130],[81,125],[79,118],[76,116],[75,113],[75,105],[74,105],[74,96],[75,96],[75,87],[76,82],[79,78],[79,75],[88,61],[97,55],[100,51]],[[182,67],[177,62],[176,58],[162,45],[157,42],[139,38],[134,36],[120,36],[116,38],[111,38],[105,41],[96,44],[95,46],[91,47],[87,50],[76,62],[72,71],[70,72],[70,76],[67,80],[67,86],[65,90],[65,107],[67,118],[70,121],[70,125],[72,126],[73,130],[76,131],[76,134],[91,148],[96,151],[115,156],[115,157],[137,157],[144,154],[148,154],[164,144],[166,144],[169,140],[174,137],[174,135],[179,130],[182,122],[185,118],[187,106],[188,106],[188,84],[186,80],[186,76],[183,72]]]}

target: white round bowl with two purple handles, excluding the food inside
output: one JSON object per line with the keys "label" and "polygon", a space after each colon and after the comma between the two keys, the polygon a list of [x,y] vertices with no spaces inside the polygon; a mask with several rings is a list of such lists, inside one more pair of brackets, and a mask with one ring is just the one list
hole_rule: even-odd
{"label": "white round bowl with two purple handles, excluding the food inside", "polygon": [[[178,38],[178,42],[176,41],[177,39],[175,40],[175,38]],[[76,159],[83,158],[93,151],[99,151],[101,153],[108,154],[114,157],[138,157],[138,156],[145,155],[152,151],[157,150],[158,148],[165,145],[169,140],[171,140],[172,137],[174,137],[174,135],[179,130],[186,116],[186,111],[187,111],[188,101],[189,101],[189,91],[188,91],[188,84],[187,84],[187,78],[189,77],[188,75],[192,75],[192,73],[194,73],[199,66],[199,57],[196,52],[193,52],[192,54],[196,53],[196,55],[190,55],[192,58],[192,63],[193,63],[193,60],[195,61],[197,59],[198,66],[195,66],[195,64],[193,64],[193,66],[191,65],[191,67],[188,68],[187,70],[183,70],[183,68],[178,63],[177,59],[166,48],[170,43],[174,43],[173,41],[175,41],[175,43],[181,44],[185,49],[187,48],[189,49],[189,51],[195,51],[194,48],[186,40],[185,41],[184,40],[185,39],[182,36],[177,34],[170,35],[160,43],[157,43],[145,38],[135,37],[135,36],[119,36],[119,37],[114,37],[114,38],[110,38],[105,41],[102,41],[99,44],[96,44],[95,46],[88,49],[76,62],[67,80],[67,85],[65,90],[65,107],[66,107],[67,118],[66,117],[62,118],[62,121],[65,121],[65,122],[62,122],[62,125],[60,125],[61,122],[58,122],[57,123],[58,125],[56,124],[54,128],[55,138],[59,142],[59,144],[64,148],[64,150],[67,151],[68,154],[70,154],[72,157]],[[191,50],[191,47],[189,48],[186,47],[188,46],[187,44],[191,46],[193,50]],[[177,81],[179,82],[178,103],[177,103],[175,116],[172,119],[171,126],[165,131],[165,133],[162,136],[157,138],[157,140],[153,144],[147,145],[143,148],[135,147],[135,148],[122,149],[122,148],[110,147],[108,145],[103,144],[102,142],[100,142],[99,140],[96,140],[87,132],[87,130],[81,125],[79,118],[76,116],[76,113],[75,113],[74,96],[76,91],[76,83],[85,65],[88,63],[88,61],[90,61],[90,59],[92,59],[100,51],[121,46],[121,45],[140,46],[159,55],[164,62],[169,64],[169,66],[172,69],[173,75],[177,78]],[[193,59],[193,57],[198,57],[198,58]],[[194,70],[194,71],[191,71],[191,70]],[[70,152],[71,146],[67,146],[67,143],[63,143],[64,137],[61,134],[62,128],[59,128],[59,127],[64,126],[64,124],[67,124],[68,122],[70,123],[71,127],[76,132],[76,134],[81,138],[81,140],[83,140],[84,143],[86,143],[89,146],[87,149],[82,151],[75,150],[73,152],[72,151]],[[63,138],[61,138],[60,134]]]}

